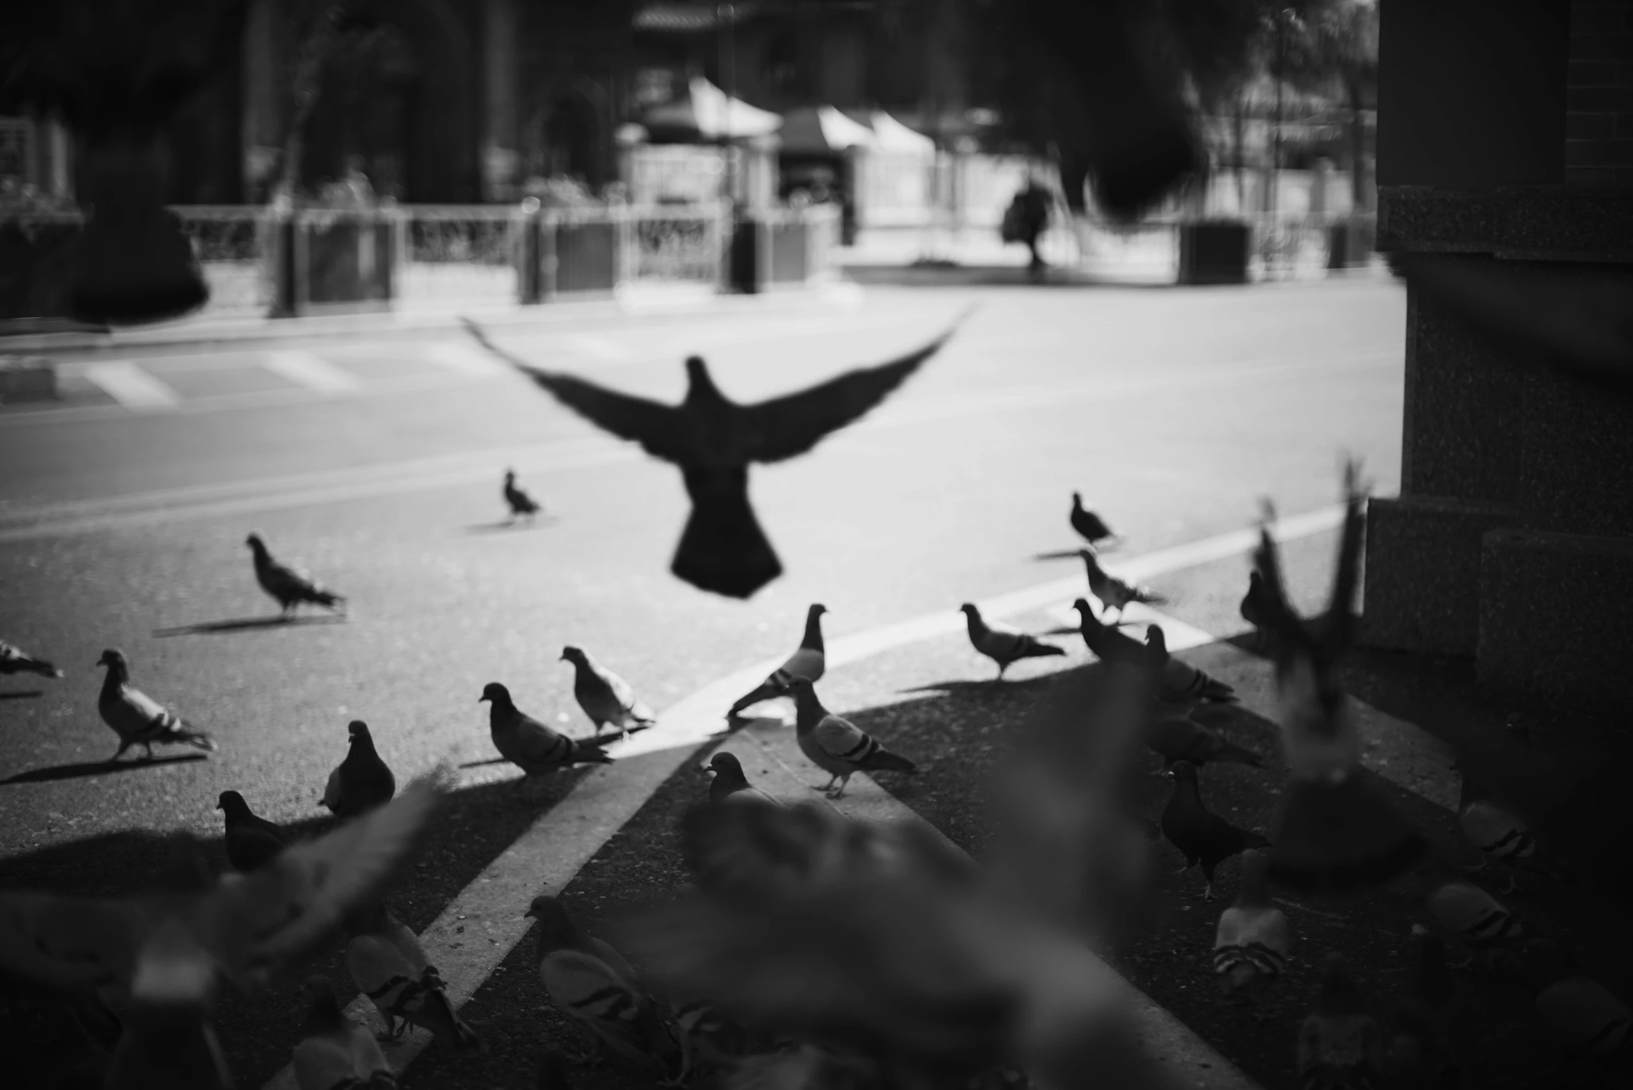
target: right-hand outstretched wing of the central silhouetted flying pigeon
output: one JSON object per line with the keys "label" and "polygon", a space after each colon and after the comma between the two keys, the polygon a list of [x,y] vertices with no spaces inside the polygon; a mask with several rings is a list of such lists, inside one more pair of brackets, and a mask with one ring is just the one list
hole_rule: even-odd
{"label": "right-hand outstretched wing of the central silhouetted flying pigeon", "polygon": [[799,457],[825,436],[859,419],[939,352],[973,310],[975,305],[967,307],[934,341],[888,364],[857,367],[799,393],[745,405],[741,419],[748,457],[754,462]]}

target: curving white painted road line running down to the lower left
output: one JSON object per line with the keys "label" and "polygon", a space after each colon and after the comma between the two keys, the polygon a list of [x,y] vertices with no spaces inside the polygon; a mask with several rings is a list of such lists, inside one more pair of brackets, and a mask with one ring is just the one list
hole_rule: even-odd
{"label": "curving white painted road line running down to the lower left", "polygon": [[[1331,529],[1339,521],[1334,512],[1341,512],[1341,509],[1329,507],[1284,519],[1275,527],[1277,538],[1290,540]],[[1128,558],[1115,571],[1122,578],[1148,579],[1163,571],[1231,556],[1254,542],[1257,542],[1256,530],[1236,530]],[[1063,583],[1053,581],[985,599],[981,612],[996,618],[1055,604],[1063,592],[1070,592],[1081,583],[1081,576],[1071,581],[1071,587],[1063,587]],[[962,627],[962,614],[936,612],[897,625],[839,636],[828,641],[828,669],[906,643],[957,631]],[[456,1007],[464,1005],[477,992],[527,933],[531,922],[521,915],[526,904],[541,893],[560,893],[701,742],[720,736],[725,728],[725,708],[764,680],[771,671],[782,666],[782,659],[784,654],[777,654],[777,658],[763,659],[710,682],[660,713],[658,726],[607,746],[607,752],[616,757],[616,762],[591,769],[565,800],[488,863],[482,875],[465,886],[425,928],[420,942],[426,956],[443,971],[449,999]],[[1261,672],[1264,672],[1262,662]],[[854,793],[857,800],[872,798],[875,804],[885,804],[877,801],[883,790],[865,775],[859,773],[851,783],[848,795]],[[890,800],[890,803],[893,801]],[[852,806],[859,804],[862,803],[852,803]],[[1174,1048],[1176,1056],[1194,1057],[1202,1056],[1204,1051],[1213,1056],[1200,1038],[1189,1035],[1184,1026],[1150,1000],[1145,1000],[1141,1008],[1146,1010],[1153,1028],[1169,1035],[1164,1038],[1164,1048]],[[359,995],[346,1008],[346,1013],[366,1021],[376,1017],[371,1013],[372,1010],[374,1005],[369,999]],[[410,1030],[400,1041],[382,1046],[392,1070],[402,1072],[429,1044],[429,1039],[431,1035],[423,1030]],[[1190,1044],[1181,1049],[1179,1046],[1186,1041]],[[1223,1061],[1218,1062],[1223,1064]],[[292,1090],[294,1085],[294,1070],[284,1067],[266,1083],[266,1090]],[[1253,1087],[1251,1082],[1238,1085]]]}

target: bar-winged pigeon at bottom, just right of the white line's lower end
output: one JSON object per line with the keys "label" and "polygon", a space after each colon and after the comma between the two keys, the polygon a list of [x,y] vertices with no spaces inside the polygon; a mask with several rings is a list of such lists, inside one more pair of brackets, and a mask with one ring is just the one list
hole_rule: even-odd
{"label": "bar-winged pigeon at bottom, just right of the white line's lower end", "polygon": [[686,1046],[611,943],[586,938],[562,902],[534,897],[527,917],[539,928],[539,979],[550,1002],[590,1033],[596,1051],[679,1085],[689,1074]]}

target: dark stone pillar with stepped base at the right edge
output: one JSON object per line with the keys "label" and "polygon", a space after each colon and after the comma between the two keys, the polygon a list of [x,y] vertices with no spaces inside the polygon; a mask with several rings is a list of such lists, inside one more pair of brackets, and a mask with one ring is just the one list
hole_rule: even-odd
{"label": "dark stone pillar with stepped base at the right edge", "polygon": [[[1633,93],[1582,95],[1597,77],[1576,57],[1628,52],[1630,7],[1383,0],[1378,248],[1515,277],[1558,261],[1633,276],[1633,191],[1564,184],[1568,168],[1615,179],[1581,176],[1622,152],[1579,114],[1633,109]],[[1633,405],[1507,357],[1409,292],[1401,494],[1370,509],[1368,643],[1473,656],[1519,700],[1633,707],[1592,684],[1620,677],[1633,640]]]}

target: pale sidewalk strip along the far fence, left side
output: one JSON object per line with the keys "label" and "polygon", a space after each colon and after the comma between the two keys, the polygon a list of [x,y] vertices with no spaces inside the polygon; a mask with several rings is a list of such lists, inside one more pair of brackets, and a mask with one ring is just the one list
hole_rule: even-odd
{"label": "pale sidewalk strip along the far fence, left side", "polygon": [[604,328],[609,323],[661,317],[723,317],[735,313],[792,313],[861,305],[864,290],[833,277],[803,289],[774,289],[758,295],[720,294],[707,286],[640,286],[612,297],[521,305],[456,300],[413,310],[382,308],[300,318],[256,315],[191,317],[145,326],[108,330],[69,320],[0,321],[0,356],[65,354],[100,349],[204,346],[220,343],[380,338],[457,330],[469,315],[493,328]]}

